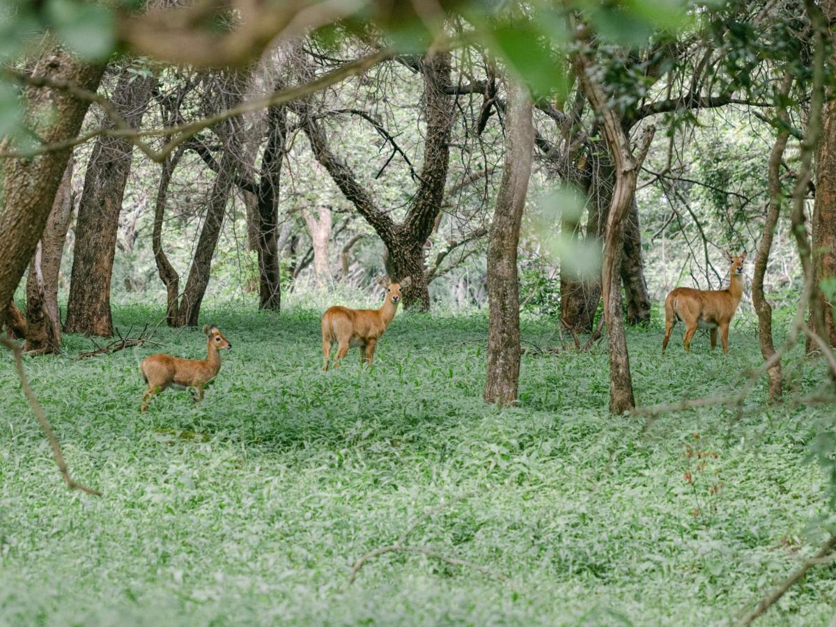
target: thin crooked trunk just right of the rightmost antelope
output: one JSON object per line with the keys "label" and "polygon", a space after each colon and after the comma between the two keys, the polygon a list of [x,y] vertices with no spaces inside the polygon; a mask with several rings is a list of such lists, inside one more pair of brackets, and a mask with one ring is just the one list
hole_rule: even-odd
{"label": "thin crooked trunk just right of the rightmost antelope", "polygon": [[[792,74],[784,74],[779,95],[781,99],[786,98],[789,89],[793,84]],[[775,344],[772,342],[772,305],[763,294],[763,277],[767,273],[769,263],[769,252],[772,250],[772,237],[775,234],[775,227],[778,217],[781,215],[781,207],[784,201],[784,193],[781,186],[781,161],[784,149],[789,139],[789,115],[787,108],[778,103],[776,107],[777,118],[781,120],[781,130],[772,145],[772,152],[769,155],[767,164],[767,176],[769,181],[769,206],[767,216],[763,221],[763,232],[761,243],[757,247],[755,257],[755,272],[752,276],[752,304],[757,313],[757,335],[761,342],[761,354],[763,360],[772,359],[775,354]],[[769,376],[769,402],[776,403],[781,400],[781,360],[778,359],[775,365],[767,370]]]}

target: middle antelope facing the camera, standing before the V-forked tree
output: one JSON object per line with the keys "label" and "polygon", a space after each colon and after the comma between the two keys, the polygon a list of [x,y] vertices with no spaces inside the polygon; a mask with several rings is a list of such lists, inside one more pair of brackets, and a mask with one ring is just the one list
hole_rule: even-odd
{"label": "middle antelope facing the camera, standing before the V-forked tree", "polygon": [[380,309],[329,308],[322,317],[322,354],[325,358],[322,370],[328,370],[334,343],[337,344],[334,368],[339,368],[339,360],[355,346],[360,349],[360,363],[368,362],[371,366],[377,340],[395,318],[400,303],[400,288],[409,288],[410,282],[409,277],[401,283],[389,283],[385,278],[379,278],[378,283],[386,290],[386,299]]}

